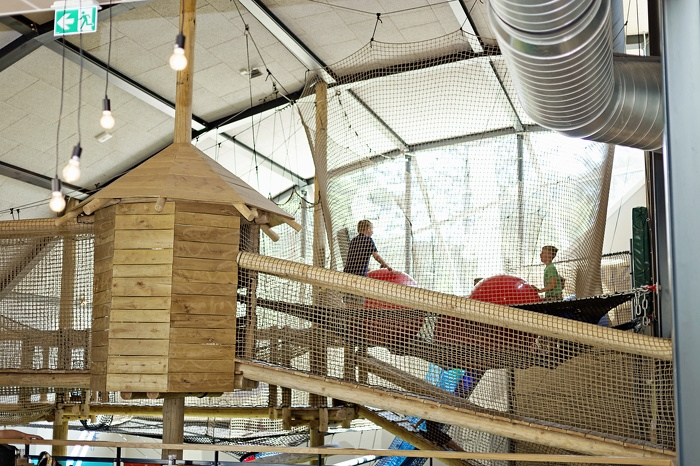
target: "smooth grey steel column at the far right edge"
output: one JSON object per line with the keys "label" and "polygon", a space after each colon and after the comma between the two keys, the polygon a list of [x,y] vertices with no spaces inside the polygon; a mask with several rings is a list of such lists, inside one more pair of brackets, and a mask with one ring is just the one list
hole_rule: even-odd
{"label": "smooth grey steel column at the far right edge", "polygon": [[676,451],[679,464],[690,466],[700,458],[700,2],[664,0],[662,31]]}

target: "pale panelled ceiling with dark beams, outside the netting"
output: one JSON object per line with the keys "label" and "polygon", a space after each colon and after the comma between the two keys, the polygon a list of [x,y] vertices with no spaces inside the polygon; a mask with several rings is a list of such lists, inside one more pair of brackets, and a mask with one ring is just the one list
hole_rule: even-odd
{"label": "pale panelled ceiling with dark beams, outside the netting", "polygon": [[[167,61],[179,0],[100,3],[97,32],[64,45],[52,33],[53,0],[0,2],[0,220],[52,215],[57,155],[60,173],[78,140],[83,174],[64,187],[77,197],[172,142],[175,72]],[[635,13],[646,6],[625,9],[628,34],[644,32],[646,17]],[[469,41],[474,51],[494,44],[481,0],[199,0],[194,143],[265,196],[303,186],[314,168],[290,101],[306,76],[372,39],[411,43],[460,27],[482,37]],[[261,75],[250,77],[251,69]],[[99,142],[105,90],[117,123]]]}

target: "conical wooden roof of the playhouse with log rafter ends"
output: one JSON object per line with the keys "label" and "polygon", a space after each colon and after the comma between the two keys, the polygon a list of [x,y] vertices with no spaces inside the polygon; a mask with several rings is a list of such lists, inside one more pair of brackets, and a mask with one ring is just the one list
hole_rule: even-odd
{"label": "conical wooden roof of the playhouse with log rafter ends", "polygon": [[260,224],[273,240],[271,227],[287,223],[297,231],[294,217],[262,196],[236,175],[190,143],[173,143],[112,184],[101,189],[59,217],[63,223],[80,214],[122,201],[152,199],[156,210],[166,200],[186,200],[233,205],[246,220]]}

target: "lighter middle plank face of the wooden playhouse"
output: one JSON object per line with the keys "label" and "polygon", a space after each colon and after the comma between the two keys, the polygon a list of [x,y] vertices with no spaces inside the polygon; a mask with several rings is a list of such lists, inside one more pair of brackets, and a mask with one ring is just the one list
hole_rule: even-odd
{"label": "lighter middle plank face of the wooden playhouse", "polygon": [[[165,392],[175,203],[115,207],[108,322],[110,391]],[[97,220],[97,219],[96,219]]]}

